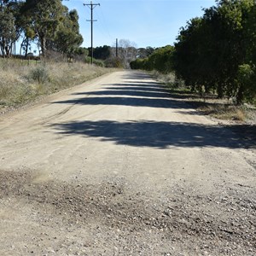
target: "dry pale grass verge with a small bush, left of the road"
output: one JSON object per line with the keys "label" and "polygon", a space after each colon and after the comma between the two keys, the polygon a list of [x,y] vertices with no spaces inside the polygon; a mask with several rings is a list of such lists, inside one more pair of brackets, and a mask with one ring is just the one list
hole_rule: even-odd
{"label": "dry pale grass verge with a small bush, left of the road", "polygon": [[0,59],[0,113],[112,71],[81,62],[34,61],[28,65],[20,60]]}

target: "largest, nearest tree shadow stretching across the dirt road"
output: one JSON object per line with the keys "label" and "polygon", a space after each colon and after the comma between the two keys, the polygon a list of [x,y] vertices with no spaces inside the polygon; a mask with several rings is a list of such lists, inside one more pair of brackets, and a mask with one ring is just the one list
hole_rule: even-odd
{"label": "largest, nearest tree shadow stretching across the dirt road", "polygon": [[[97,137],[102,142],[151,148],[256,148],[255,127],[246,127],[254,139],[239,137],[218,125],[158,121],[73,121],[51,125],[56,132],[82,137]],[[234,129],[245,127],[234,127]]]}

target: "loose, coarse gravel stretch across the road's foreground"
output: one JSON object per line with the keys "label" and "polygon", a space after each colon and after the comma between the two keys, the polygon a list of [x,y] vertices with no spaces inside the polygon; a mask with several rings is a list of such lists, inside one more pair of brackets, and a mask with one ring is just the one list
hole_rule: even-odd
{"label": "loose, coarse gravel stretch across the road's foreground", "polygon": [[[0,172],[2,208],[15,210],[22,242],[0,239],[2,255],[255,255],[256,189],[216,185],[197,195],[189,183],[151,197],[125,178],[34,183],[32,173]],[[29,220],[27,211],[30,212]],[[3,215],[3,212],[2,212]],[[24,229],[23,222],[30,222]]]}

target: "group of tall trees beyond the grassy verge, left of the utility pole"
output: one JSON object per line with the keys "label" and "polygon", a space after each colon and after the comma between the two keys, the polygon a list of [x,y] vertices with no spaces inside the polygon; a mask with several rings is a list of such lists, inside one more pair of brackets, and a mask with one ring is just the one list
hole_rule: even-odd
{"label": "group of tall trees beyond the grassy verge, left of the utility pole", "polygon": [[79,49],[83,43],[79,15],[61,0],[0,0],[0,54],[13,55],[20,39],[24,55],[30,53],[32,44],[38,44],[44,57],[50,52],[68,58],[84,54],[84,49]]}

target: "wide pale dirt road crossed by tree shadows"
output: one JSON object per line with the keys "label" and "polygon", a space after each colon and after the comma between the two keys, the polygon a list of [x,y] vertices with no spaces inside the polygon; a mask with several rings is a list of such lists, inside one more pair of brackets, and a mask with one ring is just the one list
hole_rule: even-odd
{"label": "wide pale dirt road crossed by tree shadows", "polygon": [[138,72],[0,117],[0,255],[255,255],[255,142]]}

